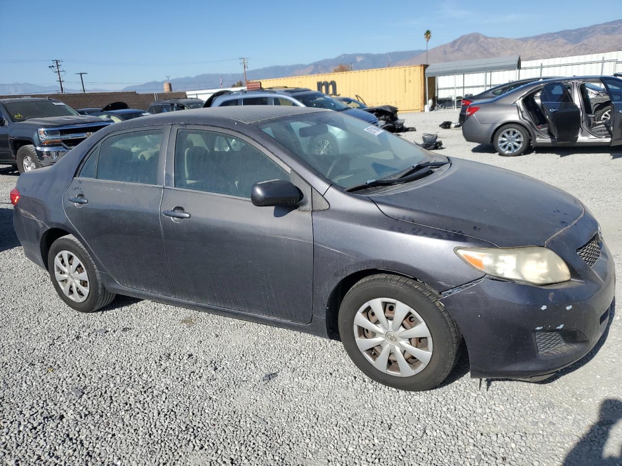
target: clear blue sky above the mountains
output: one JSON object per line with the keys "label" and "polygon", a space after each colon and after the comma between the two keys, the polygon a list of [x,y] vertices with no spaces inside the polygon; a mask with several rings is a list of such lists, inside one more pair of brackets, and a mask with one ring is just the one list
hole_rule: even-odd
{"label": "clear blue sky above the mountains", "polygon": [[80,86],[73,73],[86,71],[87,88],[119,89],[166,75],[236,73],[238,57],[253,69],[415,50],[425,48],[425,29],[432,48],[470,32],[526,37],[618,19],[584,0],[563,3],[0,0],[0,83],[53,85],[53,58],[64,60],[70,88]]}

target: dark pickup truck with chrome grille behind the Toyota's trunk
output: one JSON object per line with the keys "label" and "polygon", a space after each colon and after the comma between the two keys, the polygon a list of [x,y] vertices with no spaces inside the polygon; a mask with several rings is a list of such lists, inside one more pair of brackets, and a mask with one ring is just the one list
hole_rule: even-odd
{"label": "dark pickup truck with chrome grille behind the Toyota's trunk", "polygon": [[19,173],[52,165],[110,124],[82,116],[56,99],[0,99],[0,165],[17,165]]}

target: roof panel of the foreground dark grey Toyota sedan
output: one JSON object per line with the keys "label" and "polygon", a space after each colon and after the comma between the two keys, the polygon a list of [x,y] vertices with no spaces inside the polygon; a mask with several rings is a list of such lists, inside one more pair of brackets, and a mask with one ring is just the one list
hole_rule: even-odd
{"label": "roof panel of the foreground dark grey Toyota sedan", "polygon": [[118,129],[129,129],[141,126],[157,126],[162,124],[202,124],[221,127],[235,127],[238,123],[253,124],[284,116],[305,113],[332,112],[332,110],[314,107],[249,105],[225,106],[189,109],[183,112],[164,112],[156,115],[131,119],[115,126]]}

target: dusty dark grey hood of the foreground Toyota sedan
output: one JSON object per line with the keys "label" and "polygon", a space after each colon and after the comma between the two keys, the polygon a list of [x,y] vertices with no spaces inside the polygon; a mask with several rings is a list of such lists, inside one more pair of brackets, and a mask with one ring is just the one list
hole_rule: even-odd
{"label": "dusty dark grey hood of the foreground Toyota sedan", "polygon": [[410,189],[370,198],[389,217],[499,247],[544,245],[583,214],[578,199],[542,181],[484,163],[450,160],[451,167],[427,183],[415,181]]}

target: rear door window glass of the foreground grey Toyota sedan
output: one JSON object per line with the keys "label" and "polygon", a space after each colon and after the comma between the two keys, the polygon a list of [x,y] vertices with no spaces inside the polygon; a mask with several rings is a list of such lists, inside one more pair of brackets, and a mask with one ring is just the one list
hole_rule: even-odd
{"label": "rear door window glass of the foreground grey Toyota sedan", "polygon": [[80,177],[156,185],[163,135],[157,129],[108,137],[90,153]]}

